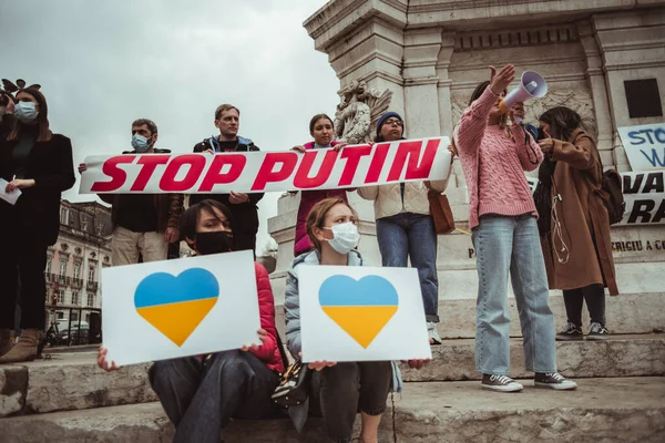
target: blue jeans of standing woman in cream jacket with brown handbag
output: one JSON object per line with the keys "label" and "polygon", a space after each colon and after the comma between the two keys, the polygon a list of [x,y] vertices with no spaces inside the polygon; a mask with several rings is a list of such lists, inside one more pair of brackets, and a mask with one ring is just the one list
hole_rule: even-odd
{"label": "blue jeans of standing woman in cream jacket with brown handbag", "polygon": [[418,268],[427,321],[439,321],[437,230],[429,215],[400,213],[377,219],[377,239],[383,266]]}

